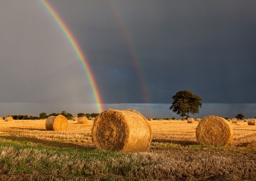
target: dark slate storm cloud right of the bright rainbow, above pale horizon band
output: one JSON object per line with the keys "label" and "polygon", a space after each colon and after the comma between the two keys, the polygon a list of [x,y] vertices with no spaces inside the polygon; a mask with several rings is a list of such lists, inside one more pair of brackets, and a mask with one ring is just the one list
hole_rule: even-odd
{"label": "dark slate storm cloud right of the bright rainbow, above pale horizon band", "polygon": [[[255,1],[112,2],[132,37],[153,103],[170,103],[182,89],[208,103],[255,103]],[[50,3],[88,55],[104,101],[143,102],[111,1]]]}

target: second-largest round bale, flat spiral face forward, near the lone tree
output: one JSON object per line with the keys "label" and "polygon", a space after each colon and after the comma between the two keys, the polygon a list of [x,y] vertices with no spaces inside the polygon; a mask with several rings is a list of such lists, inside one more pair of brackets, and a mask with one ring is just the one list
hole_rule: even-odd
{"label": "second-largest round bale, flat spiral face forward, near the lone tree", "polygon": [[204,117],[196,127],[196,140],[200,145],[224,146],[233,139],[230,123],[218,116]]}

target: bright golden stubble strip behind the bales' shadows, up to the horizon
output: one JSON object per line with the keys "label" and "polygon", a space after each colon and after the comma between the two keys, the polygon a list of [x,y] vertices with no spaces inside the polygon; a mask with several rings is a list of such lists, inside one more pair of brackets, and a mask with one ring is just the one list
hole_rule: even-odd
{"label": "bright golden stubble strip behind the bales' shadows, up to the horizon", "polygon": [[[176,143],[180,145],[198,144],[196,141],[196,127],[198,122],[188,124],[181,120],[152,120],[148,121],[153,133],[152,142]],[[88,124],[77,124],[68,120],[66,131],[46,131],[45,120],[0,120],[0,137],[6,140],[17,141],[54,141],[56,143],[72,143],[79,146],[93,147],[92,142],[93,120]],[[256,126],[247,122],[232,124],[234,139],[230,143],[234,147],[256,146]]]}

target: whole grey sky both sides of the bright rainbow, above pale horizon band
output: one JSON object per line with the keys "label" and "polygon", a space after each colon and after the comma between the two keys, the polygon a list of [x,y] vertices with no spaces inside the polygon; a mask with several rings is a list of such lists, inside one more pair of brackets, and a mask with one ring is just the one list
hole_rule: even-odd
{"label": "whole grey sky both sides of the bright rainbow, above pale horizon band", "polygon": [[[103,103],[145,103],[141,86],[150,103],[171,103],[183,89],[204,103],[256,103],[256,1],[49,3],[88,57]],[[0,22],[0,103],[95,103],[81,63],[40,1],[1,1]]]}

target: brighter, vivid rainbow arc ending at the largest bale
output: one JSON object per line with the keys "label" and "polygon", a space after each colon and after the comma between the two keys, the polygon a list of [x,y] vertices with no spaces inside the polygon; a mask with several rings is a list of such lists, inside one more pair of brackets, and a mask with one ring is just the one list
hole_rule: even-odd
{"label": "brighter, vivid rainbow arc ending at the largest bale", "polygon": [[44,5],[45,9],[49,11],[51,16],[54,18],[55,22],[59,25],[61,31],[63,34],[65,34],[65,37],[69,41],[70,45],[72,46],[74,52],[76,52],[76,55],[81,62],[84,72],[86,73],[86,76],[90,82],[90,86],[92,88],[93,97],[95,99],[95,102],[97,103],[97,109],[100,112],[104,110],[102,106],[102,101],[99,94],[99,89],[97,88],[95,78],[93,77],[92,71],[90,69],[90,66],[88,64],[86,56],[83,54],[83,51],[79,47],[79,44],[77,43],[76,39],[72,35],[72,33],[69,31],[67,25],[61,20],[61,17],[58,15],[57,11],[54,10],[54,8],[49,4],[46,0],[40,0],[41,3]]}

